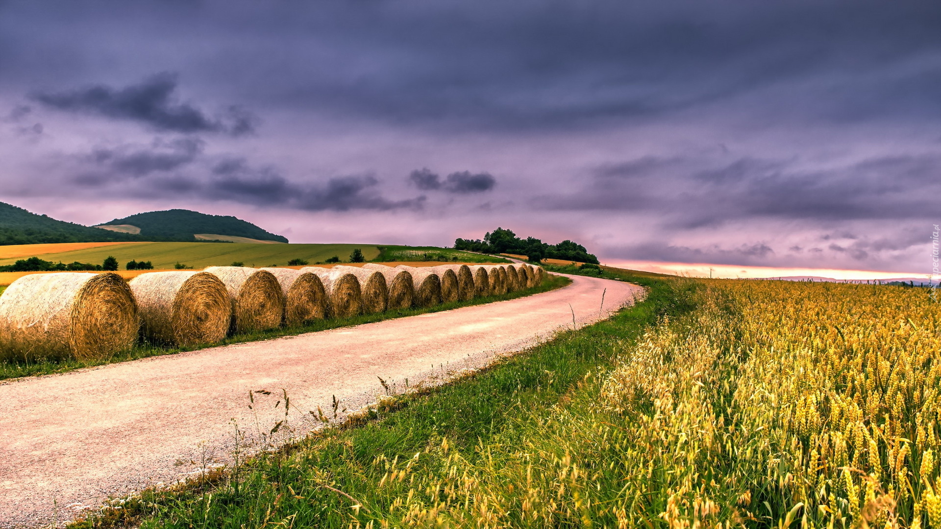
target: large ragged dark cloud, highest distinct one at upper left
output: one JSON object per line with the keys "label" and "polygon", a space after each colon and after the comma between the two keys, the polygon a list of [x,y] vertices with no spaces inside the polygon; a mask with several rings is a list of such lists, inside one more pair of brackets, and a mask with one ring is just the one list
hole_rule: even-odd
{"label": "large ragged dark cloud, highest distinct one at upper left", "polygon": [[256,118],[244,108],[230,105],[222,117],[210,117],[192,104],[179,103],[174,94],[177,85],[177,75],[164,72],[125,88],[95,85],[60,92],[35,92],[31,98],[58,110],[135,120],[158,130],[226,132],[232,136],[254,131]]}

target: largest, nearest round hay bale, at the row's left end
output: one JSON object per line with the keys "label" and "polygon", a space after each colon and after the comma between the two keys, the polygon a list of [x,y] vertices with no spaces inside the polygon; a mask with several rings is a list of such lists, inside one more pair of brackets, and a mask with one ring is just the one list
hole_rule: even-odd
{"label": "largest, nearest round hay bale, at the row's left end", "polygon": [[105,359],[134,345],[138,327],[118,274],[29,274],[0,296],[0,357]]}

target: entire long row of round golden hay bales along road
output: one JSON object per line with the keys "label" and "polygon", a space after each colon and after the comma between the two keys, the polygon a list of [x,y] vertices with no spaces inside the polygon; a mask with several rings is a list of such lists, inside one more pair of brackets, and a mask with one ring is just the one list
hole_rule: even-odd
{"label": "entire long row of round golden hay bales along road", "polygon": [[0,296],[0,358],[108,358],[140,333],[167,345],[329,317],[504,294],[543,281],[529,264],[365,264],[322,268],[211,266],[141,274],[31,274]]}

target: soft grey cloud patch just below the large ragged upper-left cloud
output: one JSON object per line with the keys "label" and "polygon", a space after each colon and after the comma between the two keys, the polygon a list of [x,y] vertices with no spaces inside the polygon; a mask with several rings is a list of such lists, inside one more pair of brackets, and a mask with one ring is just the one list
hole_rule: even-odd
{"label": "soft grey cloud patch just below the large ragged upper-left cloud", "polygon": [[90,158],[99,166],[110,168],[116,176],[139,177],[157,171],[170,171],[192,163],[202,152],[199,138],[156,139],[150,148],[120,146],[97,149]]}

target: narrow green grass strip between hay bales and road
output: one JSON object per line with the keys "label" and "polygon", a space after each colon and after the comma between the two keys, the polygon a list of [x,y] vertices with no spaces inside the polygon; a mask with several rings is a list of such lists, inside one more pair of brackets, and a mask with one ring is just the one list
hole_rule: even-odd
{"label": "narrow green grass strip between hay bales and road", "polygon": [[[423,309],[402,309],[397,311],[388,311],[386,313],[377,313],[377,314],[360,314],[357,316],[352,316],[348,318],[331,318],[326,320],[320,320],[311,325],[303,327],[289,327],[281,329],[272,329],[265,331],[256,331],[251,333],[236,334],[227,338],[226,340],[212,345],[200,345],[194,347],[167,347],[163,345],[154,345],[148,342],[142,342],[136,345],[133,349],[119,353],[118,355],[110,359],[102,359],[96,361],[79,361],[74,359],[65,359],[65,360],[56,360],[56,361],[0,361],[0,380],[15,378],[15,377],[33,377],[38,375],[52,375],[55,373],[66,373],[69,371],[74,371],[75,369],[81,369],[83,367],[92,367],[95,365],[103,365],[106,363],[115,363],[120,361],[134,361],[138,359],[154,357],[154,356],[163,356],[163,355],[172,355],[175,353],[180,353],[183,351],[193,351],[197,349],[204,349],[207,347],[215,347],[218,345],[229,345],[229,344],[241,344],[245,342],[257,342],[260,340],[268,340],[271,338],[278,338],[280,336],[290,336],[295,334],[301,334],[304,332],[315,332],[318,330],[326,329],[337,329],[341,327],[351,327],[355,325],[362,325],[366,323],[373,323],[377,321],[388,320],[392,318],[401,318],[405,316],[413,316],[416,314],[423,313],[438,313],[440,311],[450,311],[452,309],[458,309],[461,307],[469,307],[471,305],[481,305],[484,303],[491,303],[493,301],[502,301],[505,299],[515,299],[517,297],[531,296],[533,294],[538,294],[540,292],[548,292],[556,288],[561,288],[566,286],[566,284],[571,281],[558,277],[558,276],[549,276],[546,278],[546,281],[539,286],[536,286],[531,289],[521,290],[517,292],[503,294],[501,296],[487,296],[487,297],[477,297],[470,299],[468,301],[453,301],[450,303],[442,303],[435,307],[423,308]],[[5,287],[0,287],[0,289]],[[2,292],[2,290],[0,290]]]}

